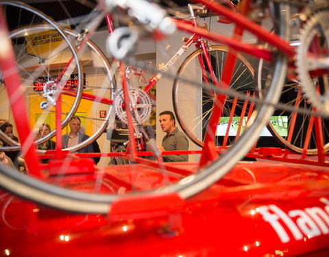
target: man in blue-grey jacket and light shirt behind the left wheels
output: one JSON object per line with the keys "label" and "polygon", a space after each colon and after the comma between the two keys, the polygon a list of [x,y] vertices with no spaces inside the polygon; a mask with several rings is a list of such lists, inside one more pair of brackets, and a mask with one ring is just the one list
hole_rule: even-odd
{"label": "man in blue-grey jacket and light shirt behind the left wheels", "polygon": [[[82,143],[84,140],[87,140],[89,136],[84,133],[81,133],[81,119],[77,116],[73,116],[69,122],[69,127],[71,132],[64,134],[62,136],[62,147],[64,148],[71,148],[77,144]],[[97,144],[98,145],[98,144]],[[86,145],[82,149],[77,150],[77,153],[94,153],[94,145]],[[95,159],[94,159],[95,161]]]}

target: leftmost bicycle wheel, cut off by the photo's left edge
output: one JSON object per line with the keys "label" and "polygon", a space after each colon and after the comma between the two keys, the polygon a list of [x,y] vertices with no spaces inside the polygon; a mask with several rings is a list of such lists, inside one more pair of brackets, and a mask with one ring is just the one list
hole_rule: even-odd
{"label": "leftmost bicycle wheel, cut off by the photo's left edge", "polygon": [[[35,8],[14,1],[1,1],[0,5],[5,19],[17,17],[17,23],[11,26],[9,38],[14,47],[23,93],[29,102],[25,110],[30,114],[32,131],[38,131],[42,123],[51,123],[51,127],[55,127],[56,101],[62,97],[64,90],[72,90],[75,97],[69,101],[60,101],[63,111],[60,123],[64,127],[77,110],[84,84],[82,66],[75,46],[57,23]],[[69,86],[70,83],[74,86]],[[2,85],[1,115],[11,117],[8,103],[13,96],[4,91],[5,86]],[[56,130],[53,130],[45,138],[36,140],[36,143],[45,142],[55,133]],[[5,137],[3,133],[0,136]],[[10,138],[5,138],[5,141],[10,141],[10,145],[13,145],[5,147],[5,150],[20,149]]]}

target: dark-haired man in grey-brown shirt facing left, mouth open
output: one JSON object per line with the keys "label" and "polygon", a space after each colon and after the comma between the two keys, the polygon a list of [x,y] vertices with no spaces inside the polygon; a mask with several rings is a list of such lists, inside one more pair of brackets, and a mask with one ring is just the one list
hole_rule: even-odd
{"label": "dark-haired man in grey-brown shirt facing left, mouth open", "polygon": [[[161,151],[187,151],[188,140],[183,132],[178,130],[175,125],[175,116],[173,112],[166,110],[159,114],[161,130],[166,132],[166,136],[162,139]],[[163,156],[165,162],[187,162],[188,155],[167,155]]]}

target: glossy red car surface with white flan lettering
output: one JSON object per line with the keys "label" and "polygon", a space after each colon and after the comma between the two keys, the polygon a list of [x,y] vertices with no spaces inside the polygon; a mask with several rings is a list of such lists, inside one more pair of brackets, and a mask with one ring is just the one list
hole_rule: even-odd
{"label": "glossy red car surface with white flan lettering", "polygon": [[[125,167],[108,169],[112,175],[120,169],[124,178]],[[117,203],[108,216],[81,215],[1,192],[0,256],[6,249],[10,256],[328,256],[328,171],[241,162],[191,199],[162,199],[168,212],[148,217],[130,201]],[[145,171],[141,181],[152,178],[156,174]],[[157,210],[154,203],[146,209]]]}

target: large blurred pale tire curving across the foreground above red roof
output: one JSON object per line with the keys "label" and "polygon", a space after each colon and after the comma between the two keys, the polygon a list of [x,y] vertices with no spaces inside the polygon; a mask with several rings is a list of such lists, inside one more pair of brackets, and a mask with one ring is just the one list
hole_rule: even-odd
{"label": "large blurred pale tire curving across the foreground above red roof", "polygon": [[[285,29],[289,29],[288,20],[284,19],[284,16],[280,16],[280,13],[284,8],[286,8],[286,5],[278,3],[274,10],[278,16],[277,20],[280,21],[281,24],[280,36],[282,36],[282,38],[286,38],[287,35]],[[250,147],[252,147],[254,140],[258,138],[260,130],[263,129],[267,118],[273,111],[273,104],[278,101],[286,70],[287,57],[283,54],[279,54],[276,59],[276,68],[274,69],[273,79],[271,81],[272,84],[269,87],[268,95],[265,97],[267,104],[260,105],[254,123],[245,130],[241,137],[236,140],[234,145],[232,145],[226,153],[222,154],[220,158],[212,162],[210,165],[202,167],[197,173],[190,175],[187,178],[185,177],[184,181],[180,181],[180,183],[171,184],[148,192],[139,192],[139,194],[127,193],[126,195],[102,195],[101,193],[83,193],[47,184],[44,181],[33,178],[32,176],[14,173],[12,170],[3,167],[3,165],[0,164],[1,187],[10,192],[16,193],[21,197],[48,206],[53,206],[54,208],[61,208],[75,212],[97,212],[105,215],[108,215],[110,212],[114,201],[119,201],[126,197],[132,197],[132,199],[136,199],[136,201],[138,201],[138,195],[145,196],[147,193],[151,194],[151,197],[167,193],[176,193],[178,197],[181,197],[182,199],[191,197],[208,188],[208,186],[214,184],[226,175],[226,173],[234,167],[236,162],[241,160]]]}

